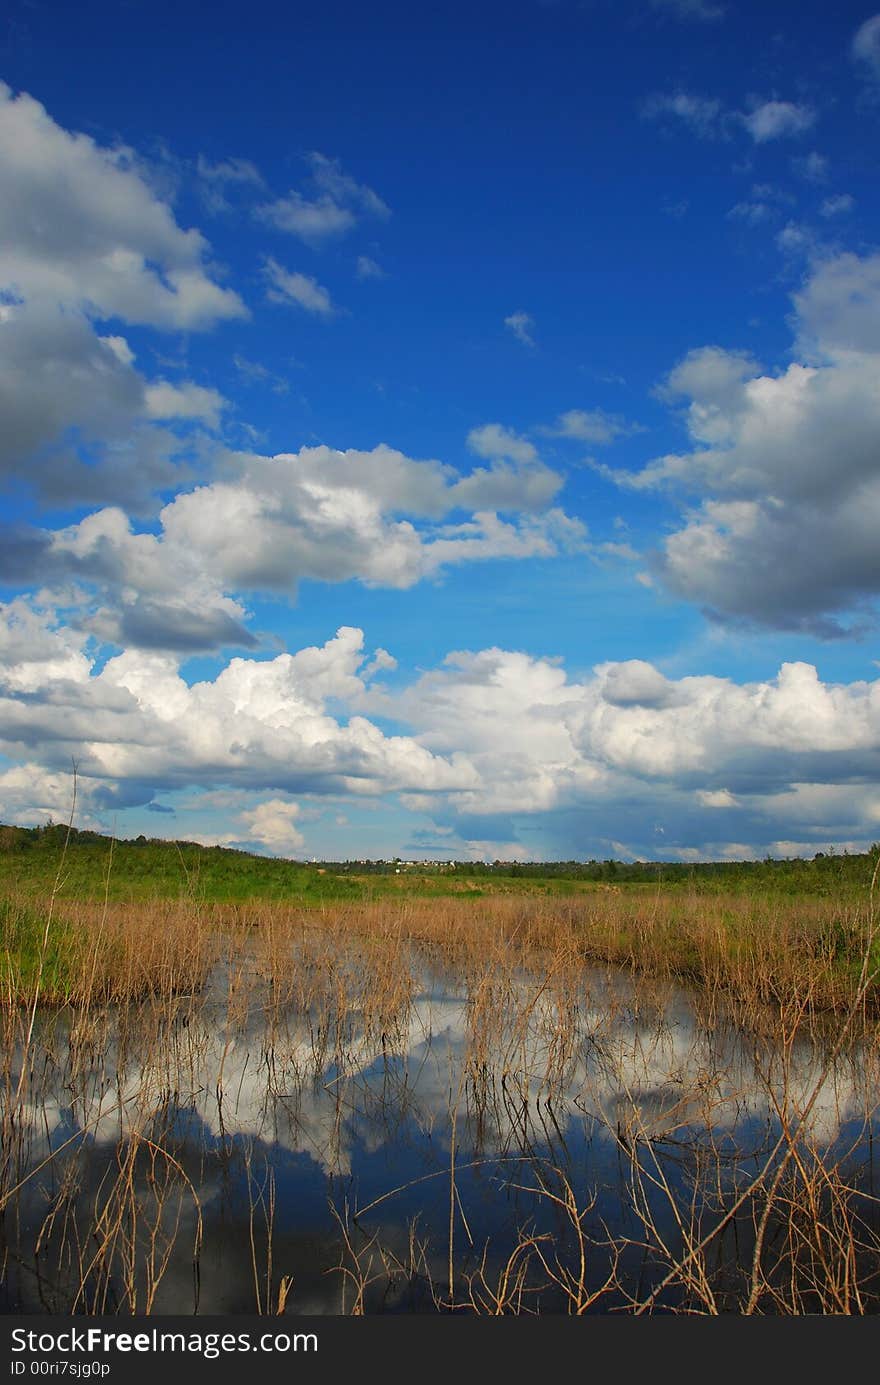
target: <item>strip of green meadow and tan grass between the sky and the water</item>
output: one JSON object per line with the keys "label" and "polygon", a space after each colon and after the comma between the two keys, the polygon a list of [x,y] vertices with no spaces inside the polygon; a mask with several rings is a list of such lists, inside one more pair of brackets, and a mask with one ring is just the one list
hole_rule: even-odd
{"label": "strip of green meadow and tan grass between the sky and the water", "polygon": [[880,943],[870,884],[879,856],[874,846],[852,856],[694,866],[319,866],[143,837],[118,842],[72,830],[68,839],[57,824],[0,827],[1,994],[90,1003],[155,986],[197,988],[220,939],[244,956],[255,938],[290,943],[303,927],[370,936],[392,928],[432,946],[510,927],[529,947],[571,947],[583,960],[686,976],[710,990],[766,1001],[805,986],[819,1008],[838,1008],[859,986],[870,938],[873,1006]]}

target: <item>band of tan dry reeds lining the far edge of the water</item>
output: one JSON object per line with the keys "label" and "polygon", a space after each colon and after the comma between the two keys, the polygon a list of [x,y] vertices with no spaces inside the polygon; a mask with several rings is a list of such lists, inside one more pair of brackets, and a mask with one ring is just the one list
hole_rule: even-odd
{"label": "band of tan dry reeds lining the far edge of the water", "polygon": [[333,957],[352,946],[405,971],[403,946],[473,970],[495,958],[498,975],[540,965],[572,974],[608,965],[685,979],[707,994],[804,1014],[844,1010],[863,981],[865,1006],[880,1008],[880,946],[868,903],[766,902],[698,893],[582,893],[358,900],[322,909],[266,900],[211,904],[61,902],[40,943],[49,904],[8,900],[0,911],[0,976],[7,1001],[26,1001],[39,976],[44,1003],[90,1006],[198,990],[226,958],[290,994],[306,951]]}

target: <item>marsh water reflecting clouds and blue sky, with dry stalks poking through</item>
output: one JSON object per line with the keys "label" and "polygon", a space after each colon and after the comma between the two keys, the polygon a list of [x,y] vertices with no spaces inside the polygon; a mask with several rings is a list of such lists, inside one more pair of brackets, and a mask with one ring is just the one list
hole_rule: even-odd
{"label": "marsh water reflecting clouds and blue sky, with dry stalks poking through", "polygon": [[40,1015],[4,1309],[740,1310],[759,1240],[765,1310],[794,1265],[800,1309],[840,1310],[833,1245],[858,1278],[876,1244],[872,1046],[410,961],[394,1006],[356,967],[305,1001],[219,968],[198,1000]]}

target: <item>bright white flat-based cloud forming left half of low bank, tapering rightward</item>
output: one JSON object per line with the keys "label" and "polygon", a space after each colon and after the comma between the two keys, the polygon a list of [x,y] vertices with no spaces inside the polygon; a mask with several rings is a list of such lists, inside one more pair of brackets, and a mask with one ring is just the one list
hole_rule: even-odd
{"label": "bright white flat-based cloud forming left half of low bank, tapering rightward", "polygon": [[[49,629],[46,640],[64,650],[57,632]],[[4,672],[0,747],[19,759],[32,748],[30,758],[53,773],[73,759],[86,780],[130,783],[141,794],[144,785],[190,784],[376,794],[474,781],[459,755],[385,735],[362,715],[342,722],[328,713],[327,701],[356,704],[364,692],[356,629],[292,655],[231,659],[213,681],[193,686],[169,654],[126,650],[100,670],[87,661],[60,679],[49,647],[37,652]],[[150,798],[147,788],[141,802]],[[272,807],[249,827],[265,834],[280,816]]]}

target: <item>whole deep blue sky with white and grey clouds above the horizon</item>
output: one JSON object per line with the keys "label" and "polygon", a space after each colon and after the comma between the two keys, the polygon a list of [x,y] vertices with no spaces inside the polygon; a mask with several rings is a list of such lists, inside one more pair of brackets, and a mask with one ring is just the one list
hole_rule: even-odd
{"label": "whole deep blue sky with white and grey clouds above the horizon", "polygon": [[0,821],[880,838],[880,12],[11,0]]}

